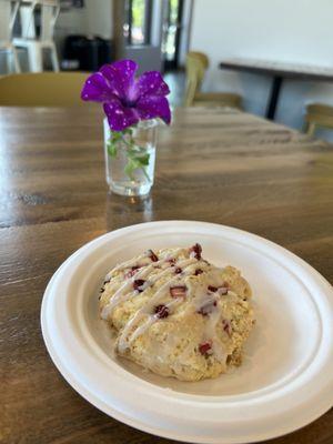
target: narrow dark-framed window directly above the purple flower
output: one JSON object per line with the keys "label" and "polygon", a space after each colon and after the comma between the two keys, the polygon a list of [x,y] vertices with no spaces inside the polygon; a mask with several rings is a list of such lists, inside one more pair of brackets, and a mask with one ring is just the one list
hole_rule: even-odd
{"label": "narrow dark-framed window directly above the purple flower", "polygon": [[128,44],[149,44],[152,0],[127,0],[124,37]]}

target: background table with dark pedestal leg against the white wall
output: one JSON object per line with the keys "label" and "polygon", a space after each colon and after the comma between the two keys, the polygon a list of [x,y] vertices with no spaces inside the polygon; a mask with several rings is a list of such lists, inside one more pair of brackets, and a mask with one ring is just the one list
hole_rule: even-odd
{"label": "background table with dark pedestal leg against the white wall", "polygon": [[220,63],[222,69],[253,72],[273,78],[266,118],[274,120],[283,79],[333,81],[333,69],[307,64],[279,63],[254,59],[228,59]]}

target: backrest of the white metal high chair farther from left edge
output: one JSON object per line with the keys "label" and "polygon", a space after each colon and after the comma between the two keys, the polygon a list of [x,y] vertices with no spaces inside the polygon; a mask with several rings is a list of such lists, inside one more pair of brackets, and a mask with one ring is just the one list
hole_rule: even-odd
{"label": "backrest of the white metal high chair farther from left edge", "polygon": [[[1,1],[1,0],[0,0]],[[58,0],[31,0],[30,4],[22,4],[20,8],[21,27],[23,39],[36,39],[34,11],[40,7],[41,11],[41,31],[40,41],[50,41],[53,39],[54,26],[60,12]]]}

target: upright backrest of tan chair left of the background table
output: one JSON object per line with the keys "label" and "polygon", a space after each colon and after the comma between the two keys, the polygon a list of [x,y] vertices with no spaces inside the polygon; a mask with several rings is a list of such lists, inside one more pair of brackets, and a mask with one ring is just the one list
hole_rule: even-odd
{"label": "upright backrest of tan chair left of the background table", "polygon": [[185,107],[193,104],[196,92],[200,91],[209,59],[203,52],[192,51],[186,56],[186,92]]}

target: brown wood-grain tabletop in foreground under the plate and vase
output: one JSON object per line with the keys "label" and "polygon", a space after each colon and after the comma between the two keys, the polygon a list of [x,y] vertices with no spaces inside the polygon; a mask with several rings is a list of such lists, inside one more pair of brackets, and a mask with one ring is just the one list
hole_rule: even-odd
{"label": "brown wood-grain tabletop in foreground under the plate and vase", "polygon": [[[109,195],[99,109],[0,109],[1,443],[170,443],[78,395],[40,331],[46,285],[68,255],[120,226],[192,219],[286,246],[333,282],[333,148],[253,115],[178,110],[152,194]],[[333,411],[271,444],[332,444]]]}

